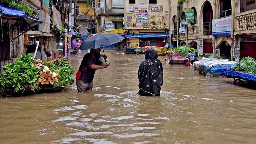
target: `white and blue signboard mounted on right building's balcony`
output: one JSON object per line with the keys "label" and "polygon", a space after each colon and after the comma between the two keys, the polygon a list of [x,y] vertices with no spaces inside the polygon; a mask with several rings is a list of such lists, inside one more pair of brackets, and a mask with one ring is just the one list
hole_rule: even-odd
{"label": "white and blue signboard mounted on right building's balcony", "polygon": [[231,19],[226,17],[212,20],[212,35],[230,35],[231,34]]}

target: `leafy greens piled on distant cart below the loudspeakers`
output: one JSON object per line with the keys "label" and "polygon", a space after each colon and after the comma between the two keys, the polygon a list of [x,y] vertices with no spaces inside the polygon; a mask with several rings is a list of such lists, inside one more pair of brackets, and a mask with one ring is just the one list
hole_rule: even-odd
{"label": "leafy greens piled on distant cart below the loudspeakers", "polygon": [[168,51],[177,52],[178,54],[181,54],[183,56],[187,55],[187,53],[194,52],[196,54],[196,57],[199,57],[198,50],[194,49],[193,47],[187,47],[185,44],[183,46],[178,46],[176,48],[170,48]]}

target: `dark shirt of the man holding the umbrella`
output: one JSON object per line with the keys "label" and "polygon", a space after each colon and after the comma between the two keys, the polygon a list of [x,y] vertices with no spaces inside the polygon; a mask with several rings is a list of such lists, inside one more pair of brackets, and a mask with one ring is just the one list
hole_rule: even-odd
{"label": "dark shirt of the man holding the umbrella", "polygon": [[95,70],[92,68],[89,68],[90,65],[100,65],[101,61],[98,57],[96,57],[96,61],[94,58],[92,58],[91,53],[87,53],[84,55],[84,58],[81,62],[81,65],[79,67],[79,71],[81,71],[81,76],[79,77],[79,80],[82,80],[83,82],[89,84],[92,82],[95,74]]}

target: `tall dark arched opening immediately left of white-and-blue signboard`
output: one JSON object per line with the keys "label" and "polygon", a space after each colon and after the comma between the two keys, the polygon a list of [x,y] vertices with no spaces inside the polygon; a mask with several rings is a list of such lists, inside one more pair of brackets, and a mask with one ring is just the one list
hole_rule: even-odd
{"label": "tall dark arched opening immediately left of white-and-blue signboard", "polygon": [[212,6],[209,1],[206,1],[203,5],[203,12],[201,18],[203,18],[203,35],[212,34]]}

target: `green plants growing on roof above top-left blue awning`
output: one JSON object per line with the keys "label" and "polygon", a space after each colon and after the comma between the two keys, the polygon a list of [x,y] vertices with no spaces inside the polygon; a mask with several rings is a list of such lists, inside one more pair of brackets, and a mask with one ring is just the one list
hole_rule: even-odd
{"label": "green plants growing on roof above top-left blue awning", "polygon": [[33,15],[33,9],[24,4],[22,1],[16,1],[16,0],[3,0],[4,5],[10,8],[18,9],[20,11],[24,11],[27,13],[28,16]]}

